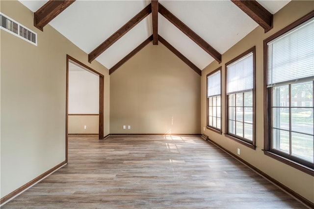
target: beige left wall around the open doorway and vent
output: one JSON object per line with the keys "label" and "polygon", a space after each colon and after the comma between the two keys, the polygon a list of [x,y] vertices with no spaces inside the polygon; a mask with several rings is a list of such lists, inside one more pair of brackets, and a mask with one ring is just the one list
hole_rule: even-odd
{"label": "beige left wall around the open doorway and vent", "polygon": [[108,70],[54,28],[33,26],[19,1],[1,12],[38,34],[38,46],[1,30],[1,198],[65,160],[66,54],[105,75],[104,133],[109,133]]}

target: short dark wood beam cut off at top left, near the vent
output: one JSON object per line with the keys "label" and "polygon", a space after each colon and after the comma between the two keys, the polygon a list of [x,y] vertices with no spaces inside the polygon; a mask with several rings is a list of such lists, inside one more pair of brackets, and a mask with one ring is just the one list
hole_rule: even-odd
{"label": "short dark wood beam cut off at top left, near the vent", "polygon": [[74,3],[75,0],[49,0],[34,12],[34,26],[43,31],[53,18]]}

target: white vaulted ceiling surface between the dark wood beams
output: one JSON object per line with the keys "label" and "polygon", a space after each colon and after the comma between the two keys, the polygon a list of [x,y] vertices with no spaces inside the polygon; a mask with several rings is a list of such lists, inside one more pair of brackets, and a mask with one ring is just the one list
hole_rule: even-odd
{"label": "white vaulted ceiling surface between the dark wood beams", "polygon": [[[35,12],[48,0],[20,1]],[[289,1],[258,0],[272,14]],[[49,24],[78,48],[90,53],[150,2],[150,0],[76,0]],[[230,0],[159,0],[159,2],[221,54],[258,26]],[[152,34],[152,15],[149,15],[96,60],[110,69]],[[201,70],[214,61],[207,52],[160,14],[158,34]]]}

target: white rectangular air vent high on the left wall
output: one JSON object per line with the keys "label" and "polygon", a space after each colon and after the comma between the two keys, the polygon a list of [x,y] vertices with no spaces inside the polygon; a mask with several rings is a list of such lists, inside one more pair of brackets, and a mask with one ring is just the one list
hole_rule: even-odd
{"label": "white rectangular air vent high on the left wall", "polygon": [[37,46],[37,33],[0,13],[0,28]]}

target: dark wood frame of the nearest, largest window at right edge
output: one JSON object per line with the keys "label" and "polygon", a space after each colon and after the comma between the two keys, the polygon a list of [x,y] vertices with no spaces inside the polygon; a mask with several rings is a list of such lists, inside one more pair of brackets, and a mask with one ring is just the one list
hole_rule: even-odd
{"label": "dark wood frame of the nearest, largest window at right edge", "polygon": [[272,143],[272,136],[271,136],[271,123],[272,123],[272,106],[271,106],[271,97],[272,97],[272,88],[267,88],[267,66],[268,66],[268,53],[267,53],[267,43],[278,38],[279,36],[287,33],[288,31],[292,30],[293,28],[303,24],[304,22],[314,18],[314,11],[306,14],[305,16],[301,17],[300,19],[296,20],[295,22],[291,23],[290,25],[284,27],[283,29],[279,30],[278,32],[274,33],[273,35],[269,36],[263,41],[263,58],[264,58],[264,155],[268,157],[272,157],[277,159],[280,162],[290,165],[298,170],[301,170],[307,174],[314,176],[314,168],[311,168],[300,160],[298,157],[289,156],[284,154],[283,152],[276,151],[271,148]]}

